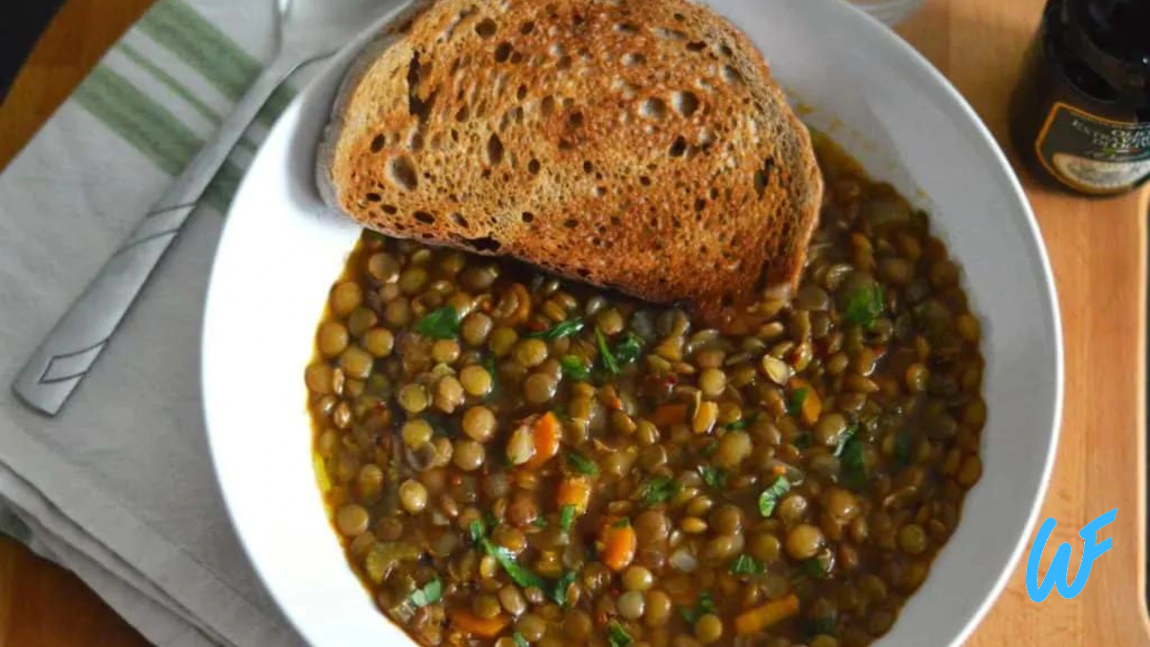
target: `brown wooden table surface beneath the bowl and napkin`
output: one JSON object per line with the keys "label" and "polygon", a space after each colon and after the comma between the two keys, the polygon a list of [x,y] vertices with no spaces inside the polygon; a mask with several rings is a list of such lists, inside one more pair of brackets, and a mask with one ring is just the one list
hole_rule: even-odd
{"label": "brown wooden table surface beneath the bowl and napkin", "polygon": [[[0,168],[152,0],[69,0],[0,106]],[[930,0],[899,32],[971,101],[1013,158],[1007,96],[1043,0]],[[1053,481],[1040,519],[1055,517],[1044,564],[1063,541],[1118,508],[1113,548],[1074,600],[1034,603],[1025,561],[969,647],[1150,647],[1145,612],[1147,191],[1086,200],[1023,182],[1038,216],[1061,305],[1066,404]],[[63,570],[0,540],[0,647],[146,645]],[[253,646],[263,647],[263,646]],[[923,646],[929,647],[929,646]]]}

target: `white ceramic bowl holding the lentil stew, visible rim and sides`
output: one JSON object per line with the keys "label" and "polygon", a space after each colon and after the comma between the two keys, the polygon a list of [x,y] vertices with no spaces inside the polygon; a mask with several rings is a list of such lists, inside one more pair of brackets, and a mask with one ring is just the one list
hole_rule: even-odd
{"label": "white ceramic bowl holding the lentil stew, visible rim and sides", "polygon": [[[1021,554],[1055,455],[1061,338],[1034,218],[979,117],[877,22],[839,0],[711,5],[758,44],[810,111],[804,119],[930,212],[964,266],[984,332],[984,472],[926,585],[879,641],[957,646]],[[345,52],[301,93],[256,155],[228,216],[204,328],[205,414],[224,500],[255,570],[316,647],[407,644],[344,562],[305,410],[315,328],[358,235],[312,181],[347,61]]]}

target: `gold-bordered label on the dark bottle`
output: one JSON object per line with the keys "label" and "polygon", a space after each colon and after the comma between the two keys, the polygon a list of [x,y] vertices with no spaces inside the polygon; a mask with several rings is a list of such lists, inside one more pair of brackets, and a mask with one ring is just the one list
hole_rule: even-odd
{"label": "gold-bordered label on the dark bottle", "polygon": [[1150,177],[1150,123],[1112,121],[1057,101],[1035,149],[1046,170],[1078,191],[1117,193]]}

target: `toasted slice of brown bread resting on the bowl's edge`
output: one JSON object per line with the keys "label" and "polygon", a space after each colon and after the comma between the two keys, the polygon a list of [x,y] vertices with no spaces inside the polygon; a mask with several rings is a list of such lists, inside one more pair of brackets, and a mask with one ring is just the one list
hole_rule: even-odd
{"label": "toasted slice of brown bread resting on the bowl's edge", "polygon": [[688,0],[439,0],[369,47],[325,199],[712,322],[793,286],[822,178],[762,56]]}

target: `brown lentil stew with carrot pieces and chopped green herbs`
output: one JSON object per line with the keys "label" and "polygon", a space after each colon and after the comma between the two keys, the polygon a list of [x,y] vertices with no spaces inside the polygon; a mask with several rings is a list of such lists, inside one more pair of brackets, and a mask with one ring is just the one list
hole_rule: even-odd
{"label": "brown lentil stew with carrot pieces and chopped green herbs", "polygon": [[980,478],[980,325],[816,138],[797,292],[731,330],[366,231],[305,372],[348,562],[425,646],[861,647]]}

